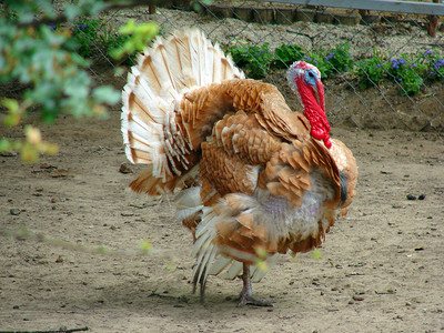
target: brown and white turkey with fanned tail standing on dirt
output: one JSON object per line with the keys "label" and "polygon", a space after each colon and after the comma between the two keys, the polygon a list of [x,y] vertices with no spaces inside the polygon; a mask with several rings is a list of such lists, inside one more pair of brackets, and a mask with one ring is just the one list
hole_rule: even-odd
{"label": "brown and white turkey with fanned tail standing on dirt", "polygon": [[245,75],[198,29],[158,38],[123,89],[127,158],[147,164],[137,193],[175,193],[176,218],[193,236],[194,291],[209,275],[251,282],[278,254],[324,241],[355,195],[352,152],[330,138],[320,71],[294,62],[287,81],[303,112],[279,90]]}

